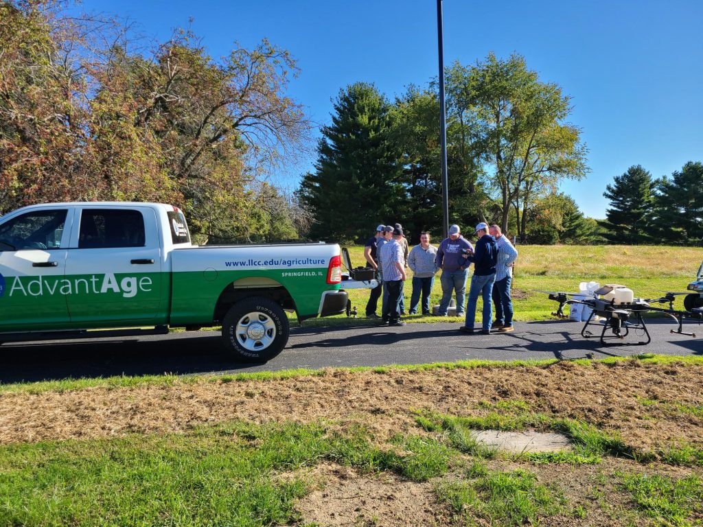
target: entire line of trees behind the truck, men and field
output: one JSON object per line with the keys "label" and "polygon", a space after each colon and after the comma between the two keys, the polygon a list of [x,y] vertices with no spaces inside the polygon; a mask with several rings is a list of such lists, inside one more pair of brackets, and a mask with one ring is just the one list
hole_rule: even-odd
{"label": "entire line of trees behind the truck, men and field", "polygon": [[[176,204],[198,242],[358,242],[378,223],[441,235],[439,91],[392,100],[340,90],[314,170],[292,195],[271,168],[304,151],[311,123],[287,95],[299,74],[262,41],[214,59],[190,30],[146,44],[120,20],[53,0],[0,0],[0,214],[25,204]],[[605,221],[558,190],[588,174],[570,98],[524,58],[446,69],[449,212],[521,242],[699,244],[701,164],[653,179],[631,167],[606,190]]]}

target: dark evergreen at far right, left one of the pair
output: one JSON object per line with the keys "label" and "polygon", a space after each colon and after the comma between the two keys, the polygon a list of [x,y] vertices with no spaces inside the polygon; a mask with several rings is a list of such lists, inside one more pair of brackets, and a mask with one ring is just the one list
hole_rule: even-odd
{"label": "dark evergreen at far right, left one of the pair", "polygon": [[605,187],[603,195],[610,200],[602,225],[610,242],[628,245],[651,241],[650,216],[655,182],[652,174],[642,165],[633,165],[621,176],[615,176],[612,185]]}

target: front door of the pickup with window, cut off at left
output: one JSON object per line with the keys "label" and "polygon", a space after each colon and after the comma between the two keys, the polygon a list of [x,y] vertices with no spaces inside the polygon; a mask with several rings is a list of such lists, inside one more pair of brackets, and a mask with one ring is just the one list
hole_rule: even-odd
{"label": "front door of the pickup with window, cut off at left", "polygon": [[68,322],[63,283],[69,209],[39,209],[0,223],[0,331]]}

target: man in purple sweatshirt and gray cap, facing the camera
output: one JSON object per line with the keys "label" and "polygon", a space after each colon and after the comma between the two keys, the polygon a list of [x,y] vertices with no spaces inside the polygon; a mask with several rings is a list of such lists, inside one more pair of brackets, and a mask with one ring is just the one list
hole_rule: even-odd
{"label": "man in purple sweatshirt and gray cap, facing the camera", "polygon": [[441,269],[441,301],[439,316],[446,317],[449,310],[451,294],[456,291],[456,315],[464,314],[464,297],[466,292],[466,276],[468,274],[466,252],[472,252],[472,245],[461,235],[458,225],[449,228],[449,238],[445,238],[437,248],[437,268]]}

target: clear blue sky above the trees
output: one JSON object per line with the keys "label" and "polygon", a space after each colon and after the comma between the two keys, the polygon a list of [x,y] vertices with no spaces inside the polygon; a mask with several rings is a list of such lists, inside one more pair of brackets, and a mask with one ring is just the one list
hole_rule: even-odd
{"label": "clear blue sky above the trees", "polygon": [[[166,39],[188,25],[214,57],[234,41],[288,49],[302,70],[290,95],[330,120],[343,86],[373,82],[392,98],[437,75],[434,0],[84,0],[85,11],[130,18]],[[703,1],[444,0],[445,63],[517,51],[572,96],[591,174],[566,182],[588,216],[605,216],[605,185],[632,164],[655,177],[703,160]],[[313,159],[289,167],[295,186]]]}

